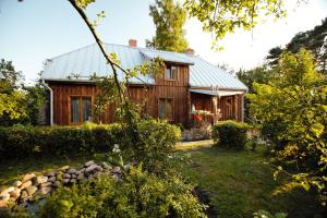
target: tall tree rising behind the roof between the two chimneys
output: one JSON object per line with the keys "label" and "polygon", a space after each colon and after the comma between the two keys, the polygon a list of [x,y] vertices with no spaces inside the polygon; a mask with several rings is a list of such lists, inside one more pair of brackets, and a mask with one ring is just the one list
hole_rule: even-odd
{"label": "tall tree rising behind the roof between the two chimneys", "polygon": [[146,41],[147,47],[184,52],[187,41],[184,37],[183,26],[186,21],[186,11],[174,0],[156,0],[149,5],[149,15],[156,26],[156,36]]}

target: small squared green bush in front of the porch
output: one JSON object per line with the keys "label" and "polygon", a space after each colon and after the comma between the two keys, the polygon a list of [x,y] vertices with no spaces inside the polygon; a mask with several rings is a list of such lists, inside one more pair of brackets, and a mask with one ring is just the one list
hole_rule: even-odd
{"label": "small squared green bush in front of the porch", "polygon": [[213,138],[216,145],[227,148],[243,149],[247,141],[246,130],[249,124],[234,121],[226,121],[213,126]]}

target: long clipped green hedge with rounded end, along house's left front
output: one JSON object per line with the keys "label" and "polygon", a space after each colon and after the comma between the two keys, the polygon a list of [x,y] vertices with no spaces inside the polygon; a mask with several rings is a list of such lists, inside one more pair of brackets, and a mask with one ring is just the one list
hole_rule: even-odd
{"label": "long clipped green hedge with rounded end, along house's left front", "polygon": [[138,125],[140,140],[143,142],[141,147],[134,147],[135,142],[126,142],[126,126],[118,123],[0,128],[0,158],[85,156],[109,153],[114,144],[132,152],[134,157],[160,158],[160,154],[171,150],[179,138],[178,129],[168,123],[148,120]]}

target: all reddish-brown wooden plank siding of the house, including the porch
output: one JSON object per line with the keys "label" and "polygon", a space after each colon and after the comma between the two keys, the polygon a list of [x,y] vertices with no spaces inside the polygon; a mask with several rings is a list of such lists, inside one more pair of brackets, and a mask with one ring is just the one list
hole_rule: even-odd
{"label": "all reddish-brown wooden plank siding of the house, including the porch", "polygon": [[[144,113],[157,119],[159,113],[159,99],[172,99],[172,123],[189,125],[192,121],[191,108],[196,110],[211,111],[214,116],[219,108],[222,118],[219,121],[235,120],[243,121],[243,95],[228,97],[213,97],[209,95],[195,94],[189,92],[189,65],[178,65],[177,80],[165,80],[164,76],[155,78],[155,85],[130,85],[129,94],[134,102],[144,106]],[[71,123],[71,97],[85,96],[92,98],[92,105],[96,104],[96,97],[100,89],[92,83],[68,83],[47,82],[53,90],[53,123],[58,125],[69,125]],[[145,88],[146,87],[146,88]],[[216,112],[215,112],[216,110]],[[114,106],[109,105],[101,116],[102,123],[114,122]],[[216,122],[217,119],[208,121]]]}

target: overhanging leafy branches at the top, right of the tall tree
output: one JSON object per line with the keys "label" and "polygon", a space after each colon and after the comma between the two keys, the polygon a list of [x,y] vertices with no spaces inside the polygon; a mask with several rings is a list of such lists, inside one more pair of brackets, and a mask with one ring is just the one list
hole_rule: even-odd
{"label": "overhanging leafy branches at the top, right of the tall tree", "polygon": [[203,23],[203,29],[217,40],[238,28],[249,31],[265,16],[286,15],[284,0],[185,0],[191,16]]}

